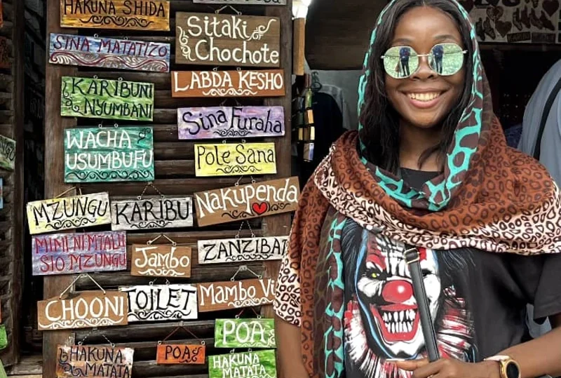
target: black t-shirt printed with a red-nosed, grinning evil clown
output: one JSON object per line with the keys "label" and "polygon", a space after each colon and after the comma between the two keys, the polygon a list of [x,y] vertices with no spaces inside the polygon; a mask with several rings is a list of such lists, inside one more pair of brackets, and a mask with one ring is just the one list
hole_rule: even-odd
{"label": "black t-shirt printed with a red-nosed, grinning evil clown", "polygon": [[[416,188],[435,175],[401,174]],[[346,378],[410,377],[386,358],[425,353],[403,250],[402,243],[345,222]],[[561,313],[561,255],[419,250],[441,357],[477,362],[527,341],[528,303],[538,321]]]}

